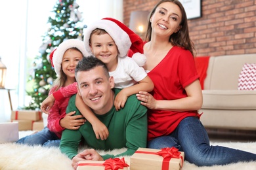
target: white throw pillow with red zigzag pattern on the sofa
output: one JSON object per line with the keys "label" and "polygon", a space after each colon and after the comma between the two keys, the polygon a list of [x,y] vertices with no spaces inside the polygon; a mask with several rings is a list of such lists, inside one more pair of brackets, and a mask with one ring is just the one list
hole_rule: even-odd
{"label": "white throw pillow with red zigzag pattern on the sofa", "polygon": [[256,63],[245,63],[238,79],[238,90],[256,90]]}

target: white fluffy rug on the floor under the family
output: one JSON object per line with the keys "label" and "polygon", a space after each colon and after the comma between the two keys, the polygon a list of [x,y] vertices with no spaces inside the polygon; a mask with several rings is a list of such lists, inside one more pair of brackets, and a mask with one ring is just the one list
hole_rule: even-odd
{"label": "white fluffy rug on the floor under the family", "polygon": [[[20,137],[32,133],[20,133]],[[255,143],[211,143],[212,145],[228,146],[230,148],[238,148],[256,154]],[[80,148],[83,150],[84,148]],[[112,154],[123,152],[125,148],[110,151]],[[26,146],[15,143],[0,144],[0,169],[72,169],[71,160],[60,152],[58,148],[43,148],[41,146]],[[99,151],[101,154],[104,152]],[[108,152],[108,153],[110,153]],[[110,154],[111,154],[110,153]],[[185,154],[186,157],[186,154]],[[129,163],[129,157],[125,157],[125,161]],[[246,169],[256,170],[256,161],[250,163],[234,163],[223,166],[213,167],[197,167],[194,164],[184,161],[182,169],[188,170],[226,170],[226,169]]]}

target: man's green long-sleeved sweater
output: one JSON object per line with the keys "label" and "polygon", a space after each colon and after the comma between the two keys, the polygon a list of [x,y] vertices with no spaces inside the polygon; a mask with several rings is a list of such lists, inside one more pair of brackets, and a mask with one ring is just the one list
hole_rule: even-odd
{"label": "man's green long-sleeved sweater", "polygon": [[[114,92],[116,96],[120,90],[114,89]],[[72,111],[75,111],[75,115],[81,114],[75,107],[75,95],[70,98],[66,109],[66,112]],[[66,154],[68,158],[72,159],[77,155],[79,143],[83,138],[85,144],[90,148],[98,150],[127,148],[126,152],[115,156],[110,154],[102,156],[104,160],[121,156],[131,156],[139,147],[146,147],[148,128],[146,112],[146,107],[140,105],[140,101],[137,99],[136,95],[131,95],[128,97],[123,109],[116,111],[113,106],[106,114],[96,114],[96,117],[108,127],[108,139],[104,141],[96,139],[93,127],[87,121],[77,130],[65,129],[62,132],[60,150],[62,153]]]}

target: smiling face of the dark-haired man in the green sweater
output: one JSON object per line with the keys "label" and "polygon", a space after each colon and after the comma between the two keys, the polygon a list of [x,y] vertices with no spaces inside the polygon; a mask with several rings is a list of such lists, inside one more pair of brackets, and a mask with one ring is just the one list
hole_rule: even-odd
{"label": "smiling face of the dark-haired man in the green sweater", "polygon": [[105,114],[113,107],[114,78],[108,78],[102,66],[90,71],[79,71],[76,80],[78,94],[96,114]]}

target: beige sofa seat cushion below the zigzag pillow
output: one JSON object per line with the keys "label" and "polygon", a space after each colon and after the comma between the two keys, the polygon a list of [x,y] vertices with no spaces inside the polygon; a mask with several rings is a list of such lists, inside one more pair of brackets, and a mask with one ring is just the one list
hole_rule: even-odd
{"label": "beige sofa seat cushion below the zigzag pillow", "polygon": [[202,109],[256,109],[256,90],[203,90],[202,92]]}

